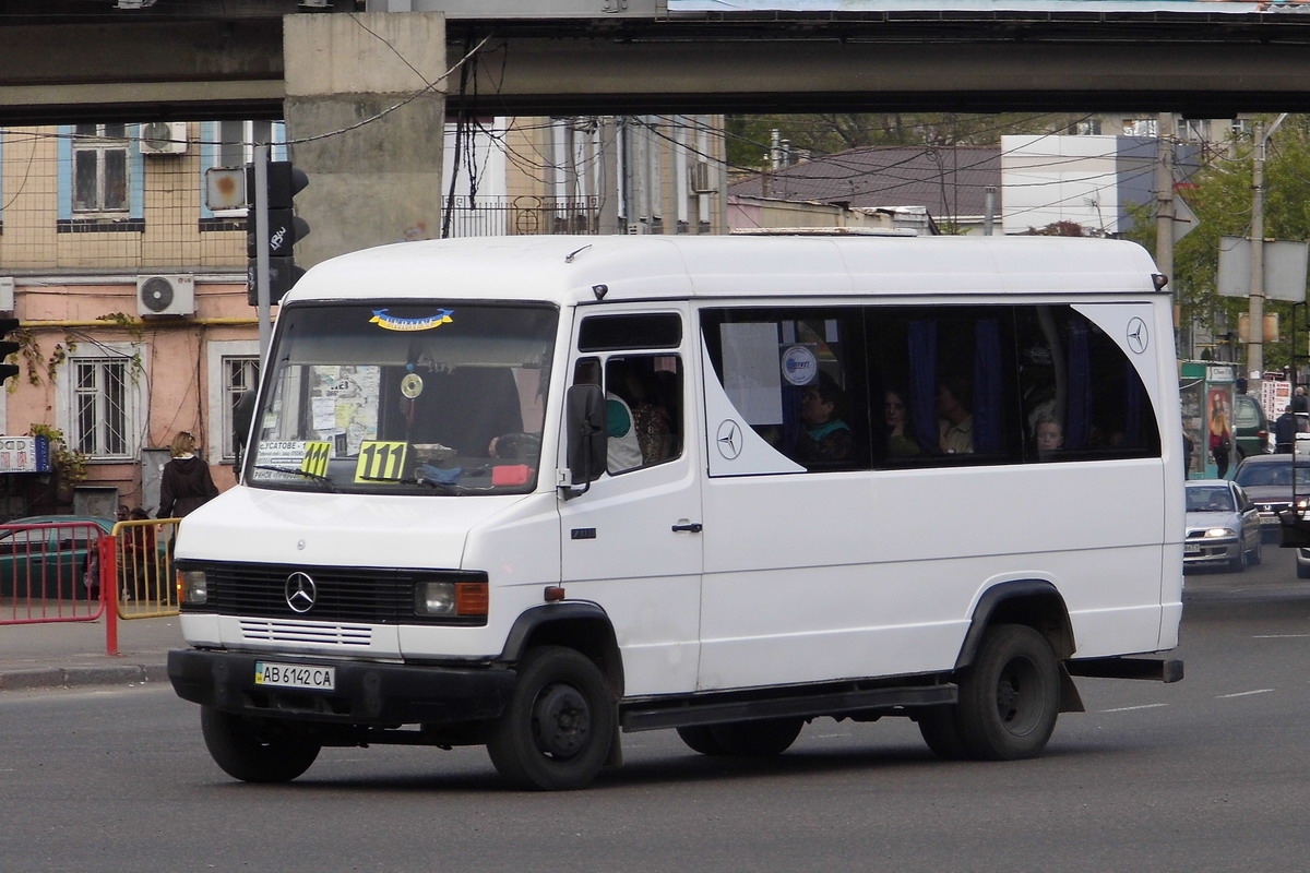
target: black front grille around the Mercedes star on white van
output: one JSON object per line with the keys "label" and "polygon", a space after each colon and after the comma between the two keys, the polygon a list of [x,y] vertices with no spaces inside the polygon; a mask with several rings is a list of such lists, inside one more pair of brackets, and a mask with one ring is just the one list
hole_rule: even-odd
{"label": "black front grille around the Mercedes star on white van", "polygon": [[[203,569],[208,601],[186,611],[221,613],[291,622],[360,622],[369,624],[485,624],[483,616],[431,618],[414,611],[415,585],[423,581],[485,580],[482,573],[394,569],[380,567],[301,567],[295,564],[195,564]],[[313,580],[313,605],[304,611],[287,602],[287,579],[305,573]],[[303,602],[303,601],[301,601]]]}

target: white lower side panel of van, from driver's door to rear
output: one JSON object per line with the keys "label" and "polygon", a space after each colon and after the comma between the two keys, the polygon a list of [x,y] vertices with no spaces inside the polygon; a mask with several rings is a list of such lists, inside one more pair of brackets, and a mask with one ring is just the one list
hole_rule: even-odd
{"label": "white lower side panel of van, from driver's door to rear", "polygon": [[1124,501],[1144,476],[1158,462],[713,479],[700,687],[950,670],[1017,579],[1061,593],[1076,656],[1154,650],[1159,507]]}

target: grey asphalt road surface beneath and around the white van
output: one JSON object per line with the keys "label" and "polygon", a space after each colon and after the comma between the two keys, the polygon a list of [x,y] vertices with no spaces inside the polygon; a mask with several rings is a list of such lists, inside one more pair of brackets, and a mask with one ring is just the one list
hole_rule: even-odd
{"label": "grey asphalt road surface beneath and around the white van", "polygon": [[328,749],[229,780],[166,687],[0,695],[5,870],[1286,870],[1306,865],[1310,584],[1267,547],[1188,576],[1178,685],[1079,679],[1047,754],[933,758],[903,720],[770,760],[625,736],[588,791],[502,789],[481,749]]}

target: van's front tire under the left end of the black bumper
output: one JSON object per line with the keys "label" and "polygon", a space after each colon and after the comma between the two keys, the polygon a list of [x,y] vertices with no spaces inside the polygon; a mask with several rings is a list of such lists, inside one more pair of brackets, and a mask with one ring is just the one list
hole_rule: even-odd
{"label": "van's front tire under the left end of the black bumper", "polygon": [[286,783],[309,770],[322,746],[303,730],[274,719],[248,719],[200,707],[200,732],[210,757],[233,779]]}

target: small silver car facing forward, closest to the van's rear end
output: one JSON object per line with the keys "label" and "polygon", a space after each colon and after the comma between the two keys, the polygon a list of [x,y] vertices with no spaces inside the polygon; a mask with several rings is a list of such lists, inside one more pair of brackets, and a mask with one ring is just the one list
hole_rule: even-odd
{"label": "small silver car facing forward, closest to the van's rear end", "polygon": [[1227,479],[1187,483],[1183,567],[1226,564],[1243,571],[1260,563],[1260,516],[1242,486]]}

